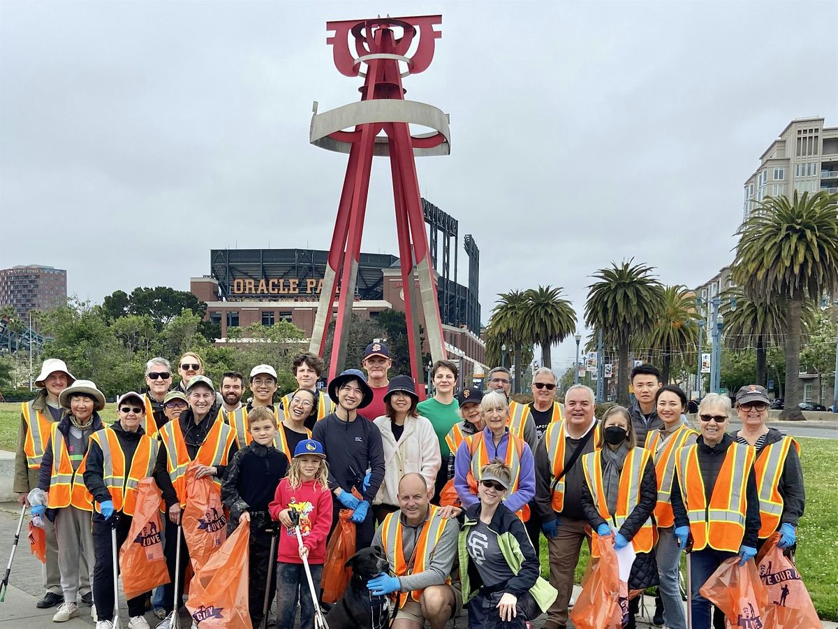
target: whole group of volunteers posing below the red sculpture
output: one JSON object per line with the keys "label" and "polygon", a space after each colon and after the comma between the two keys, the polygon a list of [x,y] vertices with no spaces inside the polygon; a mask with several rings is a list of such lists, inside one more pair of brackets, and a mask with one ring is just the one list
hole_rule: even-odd
{"label": "whole group of volunteers posing below the red sculpture", "polygon": [[[323,390],[318,356],[300,354],[292,366],[297,389],[275,403],[270,365],[253,367],[247,382],[225,372],[216,387],[188,353],[173,386],[169,362],[155,357],[147,391],[120,396],[113,422],[101,417],[105,398],[93,382],[76,380],[63,361],[44,361],[42,391],[23,404],[14,479],[21,505],[44,521],[37,605],[59,606],[56,622],[77,616],[80,603],[93,605],[97,629],[110,629],[111,518],[122,544],[137,481],[153,476],[171,578],[128,600],[128,626],[147,627],[150,605],[167,626],[183,606],[189,563],[179,527],[188,467],[220,487],[230,532],[250,527],[253,626],[263,621],[266,592],[277,597],[277,627],[294,626],[297,609],[300,626],[313,626],[303,558],[318,589],[342,510],[351,512],[356,548],[375,546],[389,560],[369,589],[395,600],[396,629],[442,627],[463,606],[471,627],[490,616],[523,626],[546,612],[545,626],[562,629],[582,543],[596,562],[603,538],[634,547],[629,590],[659,585],[654,621],[670,629],[686,626],[679,565],[691,551],[693,626],[709,629],[711,606],[699,590],[722,561],[752,559],[775,531],[782,548],[796,543],[799,446],[765,426],[763,387],[737,392],[742,429],[727,434],[730,398],[703,398],[696,432],[685,393],[649,365],[631,374],[633,406],[608,408],[599,420],[589,387],[570,387],[559,403],[556,375],[543,367],[533,401],[518,403],[504,367],[489,372],[485,390],[457,392],[458,368],[444,360],[432,366],[433,396],[420,401],[411,377],[389,377],[382,342],[366,347],[363,371],[348,369]],[[541,535],[549,582],[539,576]],[[625,626],[634,627],[636,612],[637,599]]]}

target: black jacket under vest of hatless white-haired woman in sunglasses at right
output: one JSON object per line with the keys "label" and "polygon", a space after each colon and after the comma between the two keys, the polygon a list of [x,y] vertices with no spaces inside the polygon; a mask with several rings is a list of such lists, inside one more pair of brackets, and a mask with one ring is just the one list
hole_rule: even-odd
{"label": "black jacket under vest of hatless white-haired woman in sunglasses at right", "polygon": [[[704,437],[699,436],[696,440],[698,446],[698,467],[701,470],[701,480],[704,481],[704,492],[706,501],[710,502],[713,488],[716,486],[716,478],[722,463],[727,455],[727,449],[733,443],[730,434],[725,434],[722,441],[711,448],[704,443]],[[675,526],[690,526],[690,518],[686,515],[684,499],[681,497],[680,480],[678,478],[678,467],[675,466],[675,480],[672,481],[672,493],[670,494],[672,511],[675,513]],[[745,535],[742,537],[742,546],[756,548],[759,536],[759,494],[757,492],[757,474],[753,466],[748,471],[747,483],[745,486]]]}

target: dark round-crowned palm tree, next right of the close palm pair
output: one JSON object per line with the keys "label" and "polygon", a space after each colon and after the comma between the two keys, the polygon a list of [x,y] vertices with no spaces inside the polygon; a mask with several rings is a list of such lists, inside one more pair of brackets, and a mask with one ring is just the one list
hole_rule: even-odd
{"label": "dark round-crowned palm tree, next right of the close palm pair", "polygon": [[605,343],[617,346],[617,403],[629,403],[629,345],[632,337],[649,334],[663,309],[664,291],[645,264],[623,260],[601,268],[588,286],[585,325],[603,330]]}

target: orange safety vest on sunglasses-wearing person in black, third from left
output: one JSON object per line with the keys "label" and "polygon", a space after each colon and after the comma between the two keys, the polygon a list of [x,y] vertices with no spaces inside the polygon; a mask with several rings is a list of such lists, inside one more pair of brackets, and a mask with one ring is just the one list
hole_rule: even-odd
{"label": "orange safety vest on sunglasses-wearing person in black, third from left", "polygon": [[[116,436],[116,430],[110,426],[96,430],[91,435],[102,450],[102,480],[111,492],[111,501],[115,511],[128,516],[134,515],[137,503],[137,485],[143,478],[152,476],[154,464],[160,446],[158,439],[143,434],[137,444],[137,450],[131,460],[131,469],[126,475],[125,452]],[[101,513],[99,502],[94,504],[97,513]]]}

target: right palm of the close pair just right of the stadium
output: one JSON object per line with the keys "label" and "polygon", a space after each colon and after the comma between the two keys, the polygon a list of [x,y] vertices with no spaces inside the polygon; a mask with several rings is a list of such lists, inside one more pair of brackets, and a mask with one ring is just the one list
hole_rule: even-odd
{"label": "right palm of the close pair just right of the stadium", "polygon": [[525,336],[541,346],[541,361],[551,366],[550,346],[559,343],[576,330],[576,312],[567,299],[561,298],[561,287],[539,286],[525,291]]}

